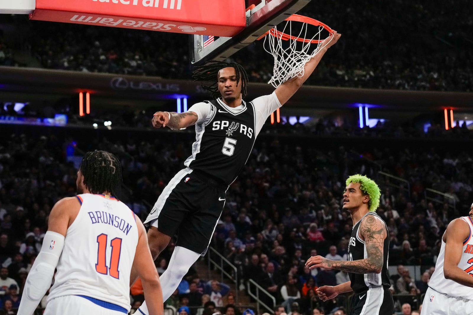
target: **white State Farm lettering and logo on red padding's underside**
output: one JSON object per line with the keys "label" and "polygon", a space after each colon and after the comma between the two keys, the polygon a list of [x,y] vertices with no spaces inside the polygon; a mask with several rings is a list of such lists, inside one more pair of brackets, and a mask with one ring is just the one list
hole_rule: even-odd
{"label": "white State Farm lettering and logo on red padding's underside", "polygon": [[[95,1],[95,0],[93,0]],[[202,26],[188,26],[188,25],[176,25],[176,24],[163,24],[163,23],[156,23],[156,22],[144,22],[144,21],[136,21],[136,20],[124,20],[124,19],[117,19],[110,17],[90,17],[90,16],[79,16],[75,15],[70,18],[72,23],[80,22],[80,23],[94,23],[96,25],[102,26],[126,26],[126,27],[134,27],[134,28],[144,28],[144,29],[153,29],[158,31],[172,31],[173,29],[177,28],[179,31],[183,33],[195,33],[195,32],[202,32],[205,31],[207,28]]]}

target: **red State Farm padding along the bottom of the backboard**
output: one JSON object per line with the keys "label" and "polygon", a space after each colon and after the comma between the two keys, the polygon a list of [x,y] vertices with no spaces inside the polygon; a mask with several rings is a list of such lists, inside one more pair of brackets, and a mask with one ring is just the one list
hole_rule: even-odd
{"label": "red State Farm padding along the bottom of the backboard", "polygon": [[36,0],[30,19],[227,37],[246,26],[244,0]]}

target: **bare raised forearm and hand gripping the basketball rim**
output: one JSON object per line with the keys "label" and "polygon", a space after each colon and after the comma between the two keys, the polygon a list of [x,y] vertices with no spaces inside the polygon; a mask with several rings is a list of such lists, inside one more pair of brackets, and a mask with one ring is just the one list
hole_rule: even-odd
{"label": "bare raised forearm and hand gripping the basketball rim", "polygon": [[311,60],[307,61],[306,65],[304,66],[304,75],[302,77],[293,77],[276,88],[276,96],[278,96],[278,100],[281,105],[284,105],[285,102],[289,101],[291,96],[296,93],[299,87],[304,82],[306,82],[307,78],[312,74],[312,72],[314,72],[315,67],[317,67],[320,60],[322,60],[322,57],[324,57],[327,49],[337,43],[340,36],[342,36],[342,34],[338,34],[336,31],[333,31],[333,36],[325,38],[324,42],[322,42],[320,45],[320,51],[317,52],[317,54],[312,57]]}

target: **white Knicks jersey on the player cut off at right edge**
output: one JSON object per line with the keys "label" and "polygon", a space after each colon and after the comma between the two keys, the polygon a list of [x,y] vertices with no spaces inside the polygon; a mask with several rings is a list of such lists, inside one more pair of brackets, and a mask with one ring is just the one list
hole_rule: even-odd
{"label": "white Knicks jersey on the player cut off at right edge", "polygon": [[[463,242],[462,258],[458,263],[458,267],[473,277],[473,222],[470,217],[461,217],[468,223],[470,234]],[[440,254],[435,264],[435,271],[429,281],[429,287],[437,292],[447,294],[451,297],[466,298],[473,300],[473,288],[462,285],[453,280],[445,279],[443,272],[445,260],[445,242],[442,237],[442,246],[440,247]]]}

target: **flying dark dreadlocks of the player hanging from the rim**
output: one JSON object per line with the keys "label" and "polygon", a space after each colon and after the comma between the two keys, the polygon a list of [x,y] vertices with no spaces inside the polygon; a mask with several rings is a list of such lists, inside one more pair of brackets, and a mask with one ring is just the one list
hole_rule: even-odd
{"label": "flying dark dreadlocks of the player hanging from the rim", "polygon": [[241,78],[241,94],[243,97],[246,96],[246,85],[248,85],[248,75],[245,69],[236,62],[225,62],[211,60],[205,66],[195,67],[194,69],[194,82],[201,81],[201,86],[204,90],[210,91],[213,98],[217,99],[220,96],[219,92],[219,71],[223,68],[233,67],[236,72],[236,85]]}

